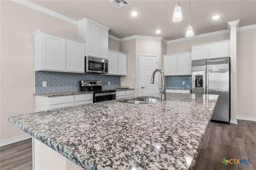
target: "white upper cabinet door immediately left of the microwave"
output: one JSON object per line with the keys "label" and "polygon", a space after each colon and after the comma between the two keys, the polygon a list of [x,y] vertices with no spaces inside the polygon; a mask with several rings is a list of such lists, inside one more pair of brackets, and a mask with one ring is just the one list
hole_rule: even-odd
{"label": "white upper cabinet door immediately left of the microwave", "polygon": [[67,71],[84,73],[84,44],[67,40]]}

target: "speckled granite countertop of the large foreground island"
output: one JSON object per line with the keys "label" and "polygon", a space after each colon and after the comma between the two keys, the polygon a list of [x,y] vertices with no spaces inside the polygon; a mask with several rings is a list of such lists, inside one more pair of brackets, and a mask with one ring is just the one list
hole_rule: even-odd
{"label": "speckled granite countertop of the large foreground island", "polygon": [[121,103],[134,98],[141,97],[8,120],[85,169],[192,169],[218,95],[166,93],[166,101]]}

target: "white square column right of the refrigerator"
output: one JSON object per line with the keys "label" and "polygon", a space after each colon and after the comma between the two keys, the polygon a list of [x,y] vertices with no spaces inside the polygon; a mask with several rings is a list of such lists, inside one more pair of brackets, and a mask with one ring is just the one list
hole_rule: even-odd
{"label": "white square column right of the refrigerator", "polygon": [[228,22],[230,31],[230,123],[236,121],[236,29],[240,20]]}

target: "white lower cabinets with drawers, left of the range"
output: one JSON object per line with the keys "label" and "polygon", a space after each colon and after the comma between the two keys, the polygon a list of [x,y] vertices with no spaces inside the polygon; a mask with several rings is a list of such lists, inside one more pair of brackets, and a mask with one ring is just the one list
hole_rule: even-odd
{"label": "white lower cabinets with drawers, left of the range", "polygon": [[93,103],[93,94],[44,97],[36,96],[36,112]]}

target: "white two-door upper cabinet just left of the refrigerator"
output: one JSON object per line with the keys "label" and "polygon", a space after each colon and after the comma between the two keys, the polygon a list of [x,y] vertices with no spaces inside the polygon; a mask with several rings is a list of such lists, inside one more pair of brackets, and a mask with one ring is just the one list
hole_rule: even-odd
{"label": "white two-door upper cabinet just left of the refrigerator", "polygon": [[191,75],[191,53],[164,55],[164,75]]}

